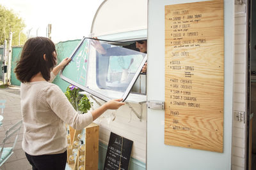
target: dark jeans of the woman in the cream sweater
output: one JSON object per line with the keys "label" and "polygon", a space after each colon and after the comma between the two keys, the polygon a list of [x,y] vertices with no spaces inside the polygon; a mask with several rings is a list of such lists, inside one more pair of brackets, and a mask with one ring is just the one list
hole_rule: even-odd
{"label": "dark jeans of the woman in the cream sweater", "polygon": [[66,167],[67,151],[64,153],[38,156],[26,153],[26,157],[33,170],[63,170]]}

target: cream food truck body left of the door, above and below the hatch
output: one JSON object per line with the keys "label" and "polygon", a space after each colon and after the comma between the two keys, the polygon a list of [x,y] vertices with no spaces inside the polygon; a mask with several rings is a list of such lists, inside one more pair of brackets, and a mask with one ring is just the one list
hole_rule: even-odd
{"label": "cream food truck body left of the door, above and below the hatch", "polygon": [[[93,18],[91,36],[112,41],[147,39],[147,8],[145,0],[104,1]],[[99,169],[104,166],[110,132],[133,141],[130,169],[146,169],[147,97],[137,97],[135,100],[127,99],[131,101],[130,105],[126,104],[118,111],[107,111],[95,120],[100,125],[99,154],[103,154],[99,155]],[[141,115],[141,118],[132,110]]]}

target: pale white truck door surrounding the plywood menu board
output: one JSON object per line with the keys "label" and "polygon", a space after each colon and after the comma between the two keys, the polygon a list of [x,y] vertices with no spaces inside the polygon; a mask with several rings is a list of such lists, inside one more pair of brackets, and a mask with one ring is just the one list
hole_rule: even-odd
{"label": "pale white truck door surrounding the plywood menu board", "polygon": [[[195,1],[148,1],[148,101],[164,101],[164,5]],[[234,64],[234,1],[224,2],[225,97],[223,153],[164,145],[164,111],[147,114],[147,169],[231,169]],[[156,12],[157,11],[157,12]],[[228,41],[226,41],[228,39]],[[158,154],[156,154],[158,153]]]}

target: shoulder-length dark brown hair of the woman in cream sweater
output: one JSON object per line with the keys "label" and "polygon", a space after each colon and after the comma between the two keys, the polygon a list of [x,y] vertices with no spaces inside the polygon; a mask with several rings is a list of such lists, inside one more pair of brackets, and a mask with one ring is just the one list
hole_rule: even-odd
{"label": "shoulder-length dark brown hair of the woman in cream sweater", "polygon": [[51,70],[56,66],[56,58],[52,55],[53,52],[56,52],[56,50],[51,39],[44,37],[28,39],[23,46],[20,60],[17,62],[14,71],[17,78],[22,83],[26,83],[35,74],[41,72],[44,79],[49,81]]}

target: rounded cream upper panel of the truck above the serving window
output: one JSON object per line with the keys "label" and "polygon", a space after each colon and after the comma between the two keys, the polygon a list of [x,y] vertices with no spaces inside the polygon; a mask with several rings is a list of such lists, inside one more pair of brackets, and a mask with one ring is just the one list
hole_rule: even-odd
{"label": "rounded cream upper panel of the truck above the serving window", "polygon": [[147,0],[105,0],[93,18],[92,36],[147,29]]}

